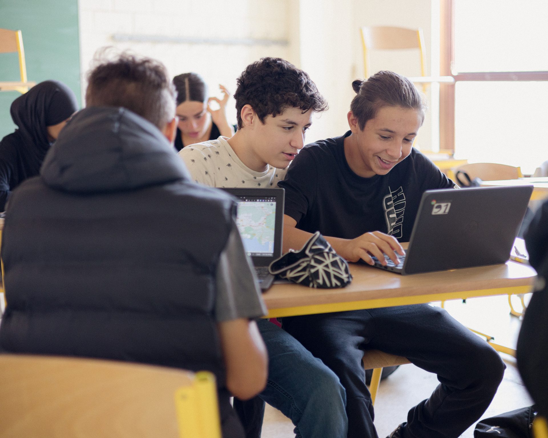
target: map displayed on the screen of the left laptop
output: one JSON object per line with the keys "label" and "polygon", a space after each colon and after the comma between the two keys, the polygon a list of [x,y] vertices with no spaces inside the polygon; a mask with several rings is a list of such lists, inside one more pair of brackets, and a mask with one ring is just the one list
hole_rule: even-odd
{"label": "map displayed on the screen of the left laptop", "polygon": [[248,256],[271,257],[274,253],[276,198],[246,197],[238,201],[236,225]]}

